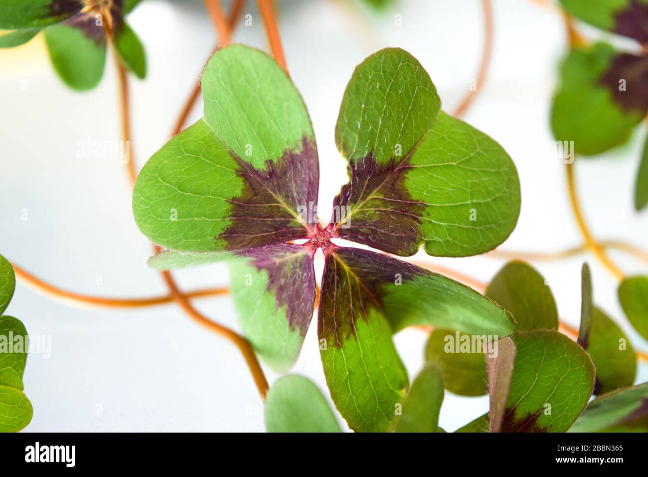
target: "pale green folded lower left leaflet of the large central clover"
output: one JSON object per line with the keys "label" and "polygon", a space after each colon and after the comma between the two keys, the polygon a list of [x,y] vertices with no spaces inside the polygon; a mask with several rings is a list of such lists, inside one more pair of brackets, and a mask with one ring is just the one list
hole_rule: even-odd
{"label": "pale green folded lower left leaflet of the large central clover", "polygon": [[289,369],[313,315],[312,251],[288,243],[236,252],[163,251],[148,265],[168,270],[215,262],[229,265],[232,298],[244,335],[274,371]]}

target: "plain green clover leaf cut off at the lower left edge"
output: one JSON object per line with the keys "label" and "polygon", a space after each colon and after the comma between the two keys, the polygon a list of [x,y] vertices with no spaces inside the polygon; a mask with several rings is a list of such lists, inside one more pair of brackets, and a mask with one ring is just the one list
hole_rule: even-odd
{"label": "plain green clover leaf cut off at the lower left edge", "polygon": [[14,296],[14,269],[0,255],[0,432],[17,432],[32,420],[34,410],[23,393],[29,338],[25,326],[3,315]]}

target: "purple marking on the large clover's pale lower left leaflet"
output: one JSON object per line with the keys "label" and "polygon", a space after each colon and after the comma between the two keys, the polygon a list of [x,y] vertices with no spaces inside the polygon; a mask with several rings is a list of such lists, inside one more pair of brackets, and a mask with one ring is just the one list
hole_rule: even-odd
{"label": "purple marking on the large clover's pale lower left leaflet", "polygon": [[315,270],[307,247],[279,243],[237,254],[268,273],[266,289],[275,295],[276,307],[286,306],[288,326],[306,336],[315,303]]}

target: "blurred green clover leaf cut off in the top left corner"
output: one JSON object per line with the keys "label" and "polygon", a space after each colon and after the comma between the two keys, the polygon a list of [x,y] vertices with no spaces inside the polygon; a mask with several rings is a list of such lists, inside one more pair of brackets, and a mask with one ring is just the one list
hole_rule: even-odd
{"label": "blurred green clover leaf cut off in the top left corner", "polygon": [[16,31],[0,36],[0,48],[29,42],[43,31],[52,66],[67,86],[91,90],[97,86],[106,63],[104,21],[121,61],[135,75],[146,76],[146,58],[139,38],[124,19],[139,0],[113,0],[110,17],[102,3],[78,0],[0,0],[0,29]]}

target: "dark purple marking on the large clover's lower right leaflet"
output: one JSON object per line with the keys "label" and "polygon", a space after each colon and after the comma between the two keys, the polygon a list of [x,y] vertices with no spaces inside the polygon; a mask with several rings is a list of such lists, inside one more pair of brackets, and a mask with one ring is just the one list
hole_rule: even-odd
{"label": "dark purple marking on the large clover's lower right leaflet", "polygon": [[[354,339],[356,323],[369,309],[382,309],[384,286],[430,272],[396,258],[362,249],[335,247],[326,255],[318,311],[318,336],[341,347]],[[397,274],[400,277],[397,277]]]}

